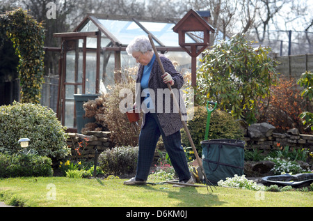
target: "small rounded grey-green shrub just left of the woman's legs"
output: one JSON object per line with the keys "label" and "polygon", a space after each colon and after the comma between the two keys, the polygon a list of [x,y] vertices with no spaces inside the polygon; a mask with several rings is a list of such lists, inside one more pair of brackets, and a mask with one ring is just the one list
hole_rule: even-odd
{"label": "small rounded grey-green shrub just left of the woman's legs", "polygon": [[138,146],[120,146],[103,151],[98,158],[99,167],[104,173],[121,175],[136,172]]}

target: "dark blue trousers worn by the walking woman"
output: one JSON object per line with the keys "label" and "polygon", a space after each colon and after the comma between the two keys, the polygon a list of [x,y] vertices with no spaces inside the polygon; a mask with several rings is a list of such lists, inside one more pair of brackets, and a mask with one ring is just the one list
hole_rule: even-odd
{"label": "dark blue trousers worn by the walking woman", "polygon": [[145,115],[145,125],[139,135],[136,179],[147,180],[160,135],[162,135],[164,146],[170,157],[170,162],[178,174],[179,181],[188,181],[191,174],[182,148],[180,131],[166,137],[157,119],[157,114],[150,112]]}

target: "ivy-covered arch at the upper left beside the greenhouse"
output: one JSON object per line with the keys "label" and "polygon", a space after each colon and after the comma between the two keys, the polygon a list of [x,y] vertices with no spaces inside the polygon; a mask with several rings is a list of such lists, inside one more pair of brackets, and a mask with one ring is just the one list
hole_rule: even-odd
{"label": "ivy-covered arch at the upper left beside the greenhouse", "polygon": [[21,82],[21,102],[39,103],[44,82],[45,29],[26,10],[18,8],[0,15],[0,45],[10,39],[19,57],[17,70]]}

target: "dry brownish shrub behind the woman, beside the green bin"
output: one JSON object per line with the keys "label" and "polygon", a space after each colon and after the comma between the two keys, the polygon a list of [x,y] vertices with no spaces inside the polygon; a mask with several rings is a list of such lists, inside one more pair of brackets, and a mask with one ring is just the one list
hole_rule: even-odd
{"label": "dry brownish shrub behind the woman, beside the green bin", "polygon": [[[111,130],[111,140],[116,146],[136,146],[141,123],[131,125],[125,113],[120,112],[120,103],[125,98],[135,96],[136,73],[138,68],[127,68],[121,73],[121,82],[114,86],[108,86],[109,93],[102,94],[95,100],[90,100],[83,105],[85,115],[95,117],[95,123],[89,123],[83,130]],[[122,92],[127,92],[126,97]],[[130,93],[131,92],[131,93]],[[129,102],[129,105],[131,103]],[[132,108],[131,107],[126,107]]]}

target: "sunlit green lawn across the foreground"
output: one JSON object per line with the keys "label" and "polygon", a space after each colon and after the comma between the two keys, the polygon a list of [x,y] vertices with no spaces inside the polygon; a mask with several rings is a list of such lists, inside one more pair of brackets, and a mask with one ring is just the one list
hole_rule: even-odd
{"label": "sunlit green lawn across the foreground", "polygon": [[0,179],[0,201],[31,207],[313,206],[312,192],[123,185],[125,179],[27,177]]}

